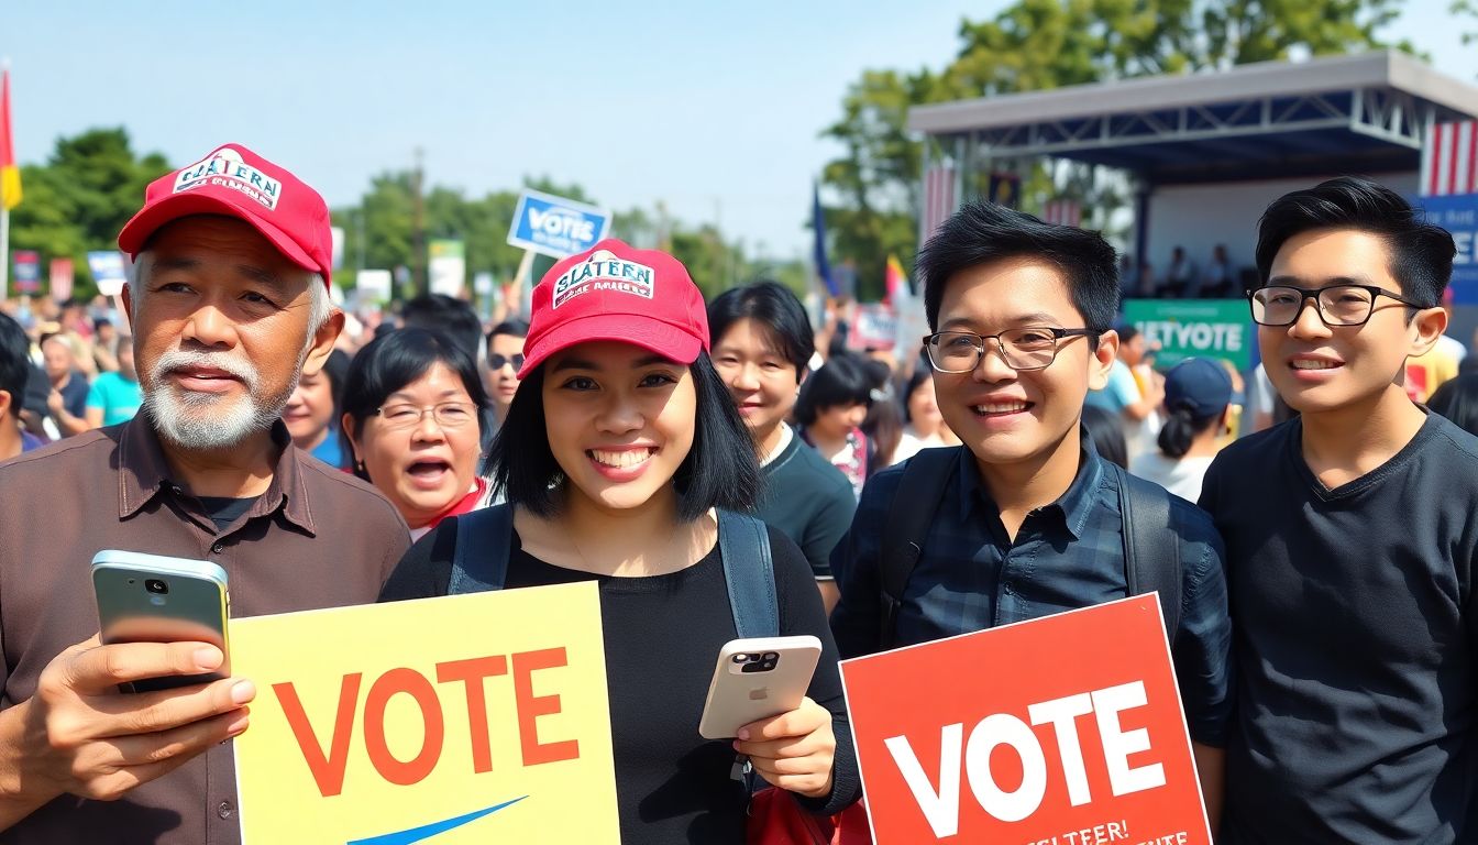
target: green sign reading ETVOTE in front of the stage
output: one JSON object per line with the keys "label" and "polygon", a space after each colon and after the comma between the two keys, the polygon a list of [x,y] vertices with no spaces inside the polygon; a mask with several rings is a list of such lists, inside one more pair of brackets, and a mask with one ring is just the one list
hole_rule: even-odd
{"label": "green sign reading ETVOTE in front of the stage", "polygon": [[1160,343],[1159,368],[1184,358],[1225,358],[1252,368],[1252,315],[1242,299],[1126,299],[1125,323],[1150,343]]}

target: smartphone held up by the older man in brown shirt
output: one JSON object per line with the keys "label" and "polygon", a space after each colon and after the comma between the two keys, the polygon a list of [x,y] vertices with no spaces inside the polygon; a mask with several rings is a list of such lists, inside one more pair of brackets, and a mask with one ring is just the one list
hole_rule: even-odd
{"label": "smartphone held up by the older man in brown shirt", "polygon": [[93,556],[102,642],[208,642],[226,656],[216,672],[126,684],[127,693],[189,687],[231,673],[226,570],[208,561],[103,549]]}

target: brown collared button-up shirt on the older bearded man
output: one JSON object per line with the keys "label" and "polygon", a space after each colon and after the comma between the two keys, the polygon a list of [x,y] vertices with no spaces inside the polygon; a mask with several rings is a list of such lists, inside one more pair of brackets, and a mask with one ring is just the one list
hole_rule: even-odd
{"label": "brown collared button-up shirt on the older bearded man", "polygon": [[[236,617],[375,601],[409,545],[405,521],[293,447],[282,423],[273,440],[272,485],[222,531],[170,479],[146,414],[0,463],[0,707],[30,698],[56,654],[96,633],[90,564],[102,549],[220,565]],[[239,841],[229,743],[121,801],[62,796],[0,833],[4,845]]]}

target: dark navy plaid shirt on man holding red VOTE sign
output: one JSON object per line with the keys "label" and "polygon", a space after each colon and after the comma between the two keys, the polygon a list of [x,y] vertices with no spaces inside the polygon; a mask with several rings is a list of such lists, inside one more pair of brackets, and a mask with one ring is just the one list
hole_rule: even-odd
{"label": "dark navy plaid shirt on man holding red VOTE sign", "polygon": [[[962,448],[934,514],[897,617],[897,645],[912,645],[1125,598],[1123,514],[1119,482],[1104,471],[1092,442],[1082,441],[1077,478],[1057,502],[1027,514],[1012,542],[1001,509],[980,482],[974,456]],[[878,553],[882,525],[903,466],[875,475],[832,553],[841,602],[832,630],[842,657],[878,648],[882,593]],[[1231,709],[1227,582],[1221,537],[1210,518],[1172,499],[1185,580],[1175,673],[1191,737],[1221,746]]]}

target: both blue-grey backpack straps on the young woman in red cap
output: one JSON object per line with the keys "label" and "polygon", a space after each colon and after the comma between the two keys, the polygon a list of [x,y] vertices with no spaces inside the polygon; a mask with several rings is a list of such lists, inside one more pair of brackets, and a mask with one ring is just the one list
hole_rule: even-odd
{"label": "both blue-grey backpack straps on the young woman in red cap", "polygon": [[[457,552],[446,595],[501,590],[508,579],[511,543],[511,505],[457,516]],[[718,511],[718,556],[724,562],[735,630],[740,638],[777,636],[780,610],[774,598],[769,528],[754,516]]]}

